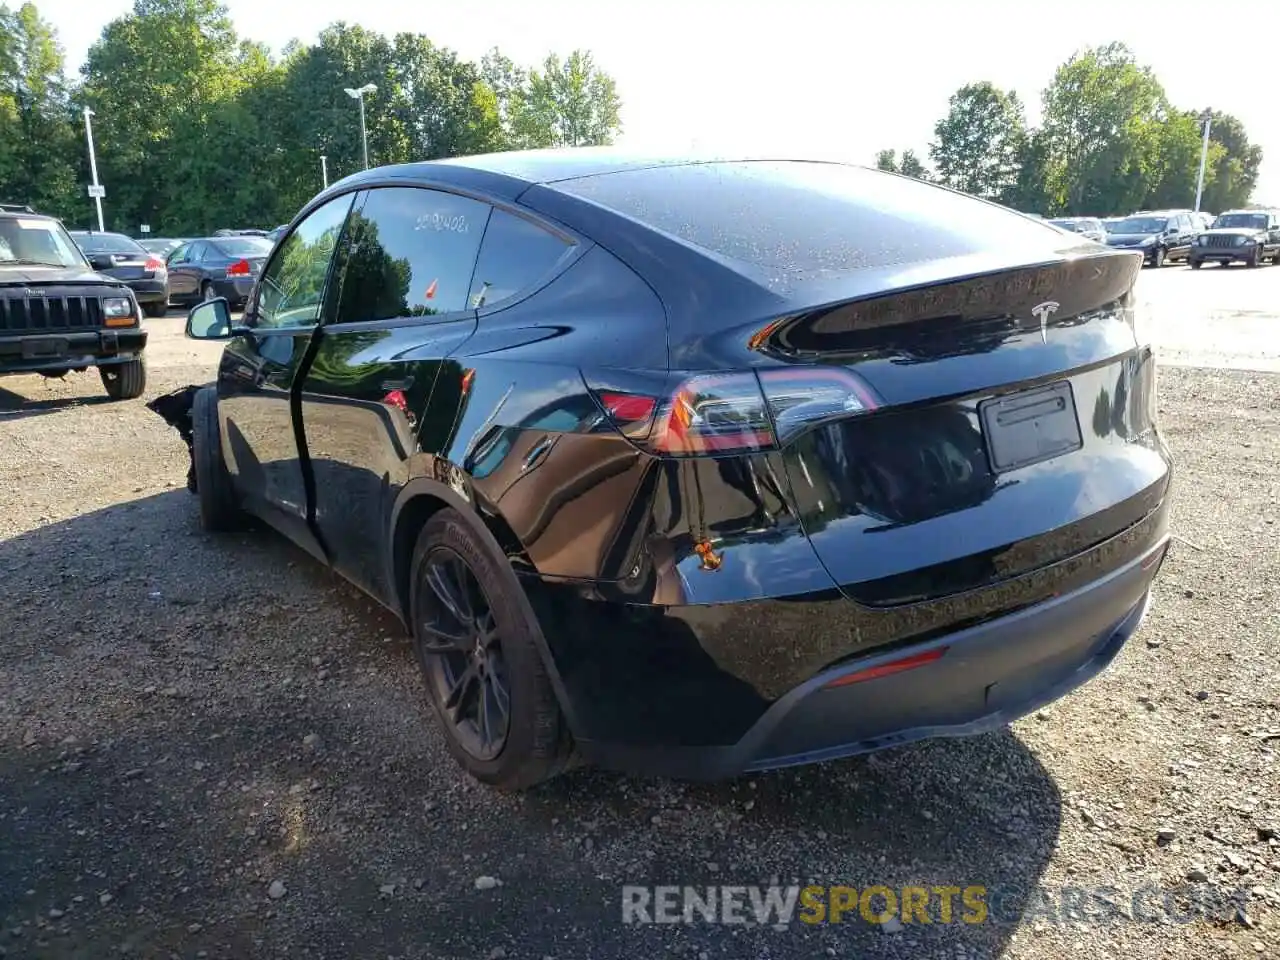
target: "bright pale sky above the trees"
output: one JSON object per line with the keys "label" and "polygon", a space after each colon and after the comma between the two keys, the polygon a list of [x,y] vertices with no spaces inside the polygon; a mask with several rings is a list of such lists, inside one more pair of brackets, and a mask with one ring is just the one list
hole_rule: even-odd
{"label": "bright pale sky above the trees", "polygon": [[[1155,69],[1175,105],[1208,105],[1244,123],[1265,152],[1254,200],[1280,205],[1275,84],[1249,82],[1251,64],[1268,50],[1262,23],[1258,46],[1233,40],[1240,54],[1226,55],[1194,18],[1167,5],[1152,15],[1151,4],[1133,0],[224,3],[242,36],[276,51],[293,38],[314,40],[339,19],[384,33],[425,33],[468,59],[498,46],[536,64],[548,52],[585,47],[617,81],[621,145],[864,164],[883,147],[911,147],[928,161],[947,97],[974,81],[1016,90],[1034,122],[1060,63],[1084,46],[1119,40]],[[58,28],[74,72],[132,0],[36,4]]]}

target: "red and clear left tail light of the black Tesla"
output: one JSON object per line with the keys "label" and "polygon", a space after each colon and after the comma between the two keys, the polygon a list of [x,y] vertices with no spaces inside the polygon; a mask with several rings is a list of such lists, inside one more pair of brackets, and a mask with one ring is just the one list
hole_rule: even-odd
{"label": "red and clear left tail light of the black Tesla", "polygon": [[773,449],[817,424],[877,407],[856,375],[824,366],[689,376],[664,396],[593,392],[625,436],[671,457]]}

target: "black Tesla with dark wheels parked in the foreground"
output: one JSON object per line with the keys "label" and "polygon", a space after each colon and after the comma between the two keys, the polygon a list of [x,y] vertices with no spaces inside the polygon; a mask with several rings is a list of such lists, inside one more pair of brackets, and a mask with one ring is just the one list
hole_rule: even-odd
{"label": "black Tesla with dark wheels parked in the foreground", "polygon": [[831,163],[516,152],[289,225],[193,393],[253,515],[412,631],[457,760],[678,777],[1083,684],[1169,544],[1140,255]]}

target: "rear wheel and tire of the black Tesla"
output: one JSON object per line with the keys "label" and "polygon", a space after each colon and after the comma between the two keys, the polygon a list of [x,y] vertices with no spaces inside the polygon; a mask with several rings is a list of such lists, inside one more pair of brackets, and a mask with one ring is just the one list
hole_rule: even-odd
{"label": "rear wheel and tire of the black Tesla", "polygon": [[572,740],[506,558],[444,508],[419,534],[410,584],[413,649],[453,759],[502,790],[563,772]]}

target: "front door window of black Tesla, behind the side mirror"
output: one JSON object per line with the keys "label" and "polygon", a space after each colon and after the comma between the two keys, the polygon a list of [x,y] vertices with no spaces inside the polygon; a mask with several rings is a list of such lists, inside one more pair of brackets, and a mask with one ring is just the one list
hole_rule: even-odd
{"label": "front door window of black Tesla, behind the side mirror", "polygon": [[276,246],[259,280],[253,326],[314,326],[320,323],[329,261],[353,198],[355,195],[347,193],[312,210]]}

